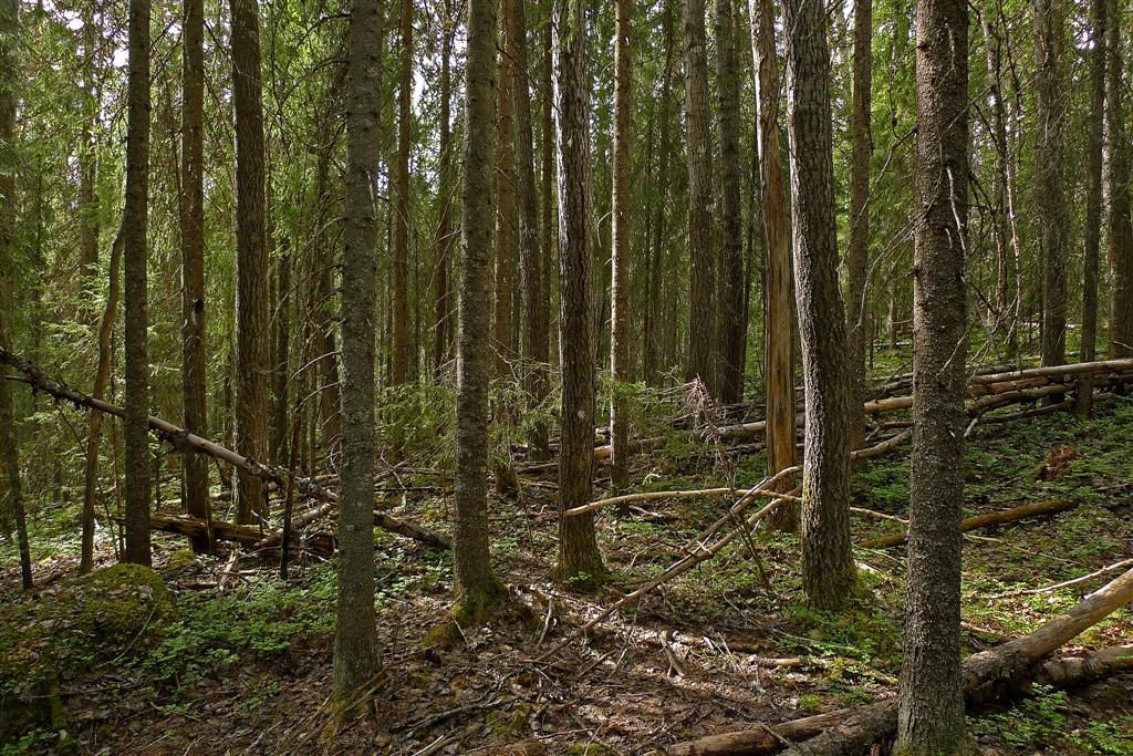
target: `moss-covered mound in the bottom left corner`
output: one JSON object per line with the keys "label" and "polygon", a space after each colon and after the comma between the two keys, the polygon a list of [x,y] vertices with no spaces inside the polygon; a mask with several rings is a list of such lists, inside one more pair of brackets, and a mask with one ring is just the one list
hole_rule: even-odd
{"label": "moss-covered mound in the bottom left corner", "polygon": [[60,727],[59,686],[100,662],[145,653],[169,622],[169,588],[148,567],[116,564],[39,604],[0,610],[0,741]]}

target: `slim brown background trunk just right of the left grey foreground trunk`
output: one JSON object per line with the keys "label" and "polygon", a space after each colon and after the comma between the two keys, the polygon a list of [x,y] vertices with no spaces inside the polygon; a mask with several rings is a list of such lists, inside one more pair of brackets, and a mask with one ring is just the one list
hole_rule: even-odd
{"label": "slim brown background trunk just right of the left grey foreground trunk", "polygon": [[414,0],[401,0],[401,85],[398,88],[398,175],[393,232],[393,375],[409,380],[409,151],[412,148]]}

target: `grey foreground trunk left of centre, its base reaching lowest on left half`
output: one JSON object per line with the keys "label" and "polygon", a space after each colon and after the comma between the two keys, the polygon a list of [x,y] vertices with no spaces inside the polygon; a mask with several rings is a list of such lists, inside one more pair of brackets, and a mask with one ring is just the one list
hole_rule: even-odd
{"label": "grey foreground trunk left of centre, its base reaching lowest on left half", "polygon": [[381,135],[376,54],[381,0],[356,0],[347,74],[346,247],[342,253],[342,476],[334,695],[355,695],[382,661],[374,614],[374,322],[377,318],[377,184]]}

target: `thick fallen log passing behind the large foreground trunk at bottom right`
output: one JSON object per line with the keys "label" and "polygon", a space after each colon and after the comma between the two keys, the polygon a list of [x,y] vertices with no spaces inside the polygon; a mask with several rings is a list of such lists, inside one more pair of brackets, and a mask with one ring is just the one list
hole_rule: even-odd
{"label": "thick fallen log passing behind the large foreground trunk at bottom right", "polygon": [[[1133,570],[1090,594],[1034,632],[969,656],[964,660],[965,700],[987,700],[997,695],[1004,683],[1017,686],[1033,680],[1065,687],[1130,666],[1133,647],[1118,646],[1083,656],[1051,660],[1036,669],[1036,664],[1055,649],[1131,600]],[[759,730],[716,733],[670,746],[663,753],[667,756],[755,756],[780,753],[787,746],[790,754],[857,756],[875,742],[893,736],[897,727],[896,714],[897,699],[886,698],[859,708],[843,708],[777,724],[774,730],[761,725]]]}

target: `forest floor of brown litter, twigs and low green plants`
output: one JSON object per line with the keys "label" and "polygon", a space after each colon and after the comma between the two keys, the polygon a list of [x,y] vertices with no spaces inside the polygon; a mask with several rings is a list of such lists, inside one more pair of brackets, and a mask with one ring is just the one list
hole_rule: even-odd
{"label": "forest floor of brown litter, twigs and low green plants", "polygon": [[[1079,506],[1053,518],[969,534],[964,542],[965,653],[1033,630],[1108,575],[1068,588],[1019,594],[1133,557],[1133,400],[1113,398],[1081,421],[1068,414],[979,427],[969,441],[965,515],[1028,501]],[[1051,451],[1070,465],[1037,479]],[[854,474],[854,506],[905,516],[909,447]],[[391,512],[446,529],[448,479],[402,465]],[[763,455],[727,458],[680,432],[640,456],[640,490],[751,485]],[[774,724],[874,700],[896,689],[901,665],[904,550],[855,547],[861,589],[844,614],[806,609],[794,537],[757,533],[600,623],[550,659],[573,628],[680,557],[727,500],[663,500],[603,511],[597,527],[612,581],[598,595],[554,586],[554,487],[523,478],[519,500],[492,502],[497,570],[509,609],[466,628],[449,651],[423,651],[450,608],[451,559],[375,534],[378,627],[387,677],[369,715],[341,723],[327,708],[335,578],[300,560],[290,580],[254,555],[195,558],[157,534],[155,568],[172,611],[152,642],[92,652],[87,670],[54,689],[66,729],[41,727],[0,754],[65,748],[92,754],[391,753],[645,754],[746,723]],[[599,486],[600,489],[602,486]],[[596,492],[599,493],[599,492]],[[32,521],[35,598],[20,596],[10,544],[0,542],[0,605],[9,622],[50,602],[75,570],[76,512],[44,508]],[[857,541],[900,527],[853,519]],[[102,564],[113,562],[103,544]],[[758,553],[758,563],[752,554]],[[761,569],[760,569],[761,564]],[[763,572],[761,572],[763,570]],[[766,580],[761,577],[765,575]],[[1002,595],[1013,594],[1013,595]],[[995,597],[995,596],[999,597]],[[15,609],[11,609],[15,608]],[[28,610],[29,611],[29,610]],[[0,614],[2,615],[2,614]],[[26,614],[25,614],[26,615]],[[148,620],[147,620],[148,623]],[[0,626],[0,634],[11,632]],[[1064,649],[1128,644],[1126,606]],[[61,643],[61,639],[56,642]],[[0,639],[0,656],[10,653]],[[0,672],[2,672],[0,664]],[[1133,673],[1068,693],[972,711],[987,754],[1133,754]]]}

